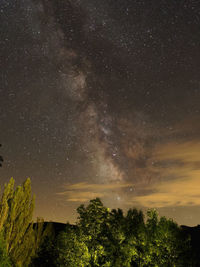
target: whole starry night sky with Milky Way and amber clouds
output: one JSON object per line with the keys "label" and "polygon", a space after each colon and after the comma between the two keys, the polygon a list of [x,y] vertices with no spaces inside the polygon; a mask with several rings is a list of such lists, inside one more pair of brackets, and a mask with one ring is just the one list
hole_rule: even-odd
{"label": "whole starry night sky with Milky Way and amber clouds", "polygon": [[0,184],[200,223],[198,0],[0,0]]}

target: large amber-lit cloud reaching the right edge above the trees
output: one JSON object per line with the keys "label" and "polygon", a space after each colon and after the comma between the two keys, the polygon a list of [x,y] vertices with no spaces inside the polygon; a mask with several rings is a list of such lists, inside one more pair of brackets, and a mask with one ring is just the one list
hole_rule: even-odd
{"label": "large amber-lit cloud reaching the right edge above the trees", "polygon": [[132,197],[130,203],[149,208],[200,205],[200,142],[159,145],[154,160],[165,180],[152,184],[150,194]]}

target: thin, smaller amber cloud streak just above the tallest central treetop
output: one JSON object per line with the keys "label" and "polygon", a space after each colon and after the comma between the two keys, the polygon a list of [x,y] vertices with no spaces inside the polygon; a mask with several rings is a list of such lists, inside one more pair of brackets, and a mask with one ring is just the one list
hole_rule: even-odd
{"label": "thin, smaller amber cloud streak just above the tallest central treetop", "polygon": [[65,191],[57,193],[69,202],[86,202],[90,199],[99,197],[110,197],[113,193],[119,193],[122,189],[133,187],[130,183],[109,183],[109,184],[95,184],[95,183],[76,183],[66,184]]}

